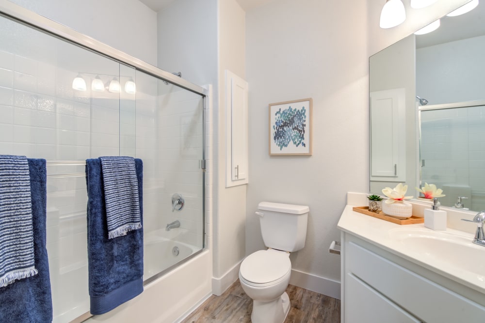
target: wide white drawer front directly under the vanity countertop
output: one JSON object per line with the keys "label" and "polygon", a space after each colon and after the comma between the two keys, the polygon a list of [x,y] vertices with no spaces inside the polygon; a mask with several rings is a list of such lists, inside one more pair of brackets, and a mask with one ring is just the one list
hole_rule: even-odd
{"label": "wide white drawer front directly under the vanity countertop", "polygon": [[483,323],[485,308],[431,280],[349,242],[345,248],[346,272],[420,320],[428,323]]}

